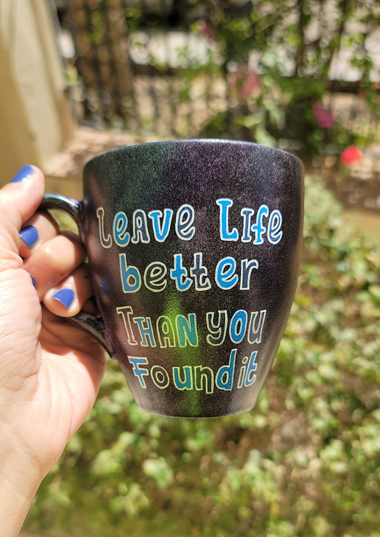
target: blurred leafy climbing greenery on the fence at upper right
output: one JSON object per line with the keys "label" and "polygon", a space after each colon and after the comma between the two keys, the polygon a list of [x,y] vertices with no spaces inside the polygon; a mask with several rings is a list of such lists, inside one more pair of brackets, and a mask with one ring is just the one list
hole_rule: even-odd
{"label": "blurred leafy climbing greenery on the fence at upper right", "polygon": [[[233,9],[234,3],[228,0],[210,0],[206,5],[211,11],[208,34],[219,43],[223,56],[221,69],[238,75],[232,88],[238,100],[232,101],[230,110],[219,113],[224,121],[213,118],[203,135],[219,137],[229,131],[230,136],[269,146],[284,139],[286,149],[296,149],[304,157],[323,154],[326,147],[338,154],[351,144],[374,140],[373,130],[363,136],[339,121],[321,126],[313,105],[329,90],[334,59],[350,48],[350,64],[359,80],[355,91],[378,116],[378,89],[371,79],[374,65],[368,52],[369,38],[380,18],[378,5],[355,0],[333,4],[258,0],[240,9]],[[348,27],[353,21],[358,30],[354,35]],[[308,32],[312,25],[314,30],[318,25],[317,32]],[[257,62],[254,67],[252,54]],[[253,73],[259,77],[249,91],[248,78]]]}

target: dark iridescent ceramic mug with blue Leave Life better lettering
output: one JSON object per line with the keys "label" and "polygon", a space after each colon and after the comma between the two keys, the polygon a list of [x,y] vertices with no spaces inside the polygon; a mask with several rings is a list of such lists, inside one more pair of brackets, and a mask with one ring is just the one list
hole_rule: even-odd
{"label": "dark iridescent ceramic mug with blue Leave Life better lettering", "polygon": [[145,143],[93,158],[76,221],[101,318],[71,322],[118,360],[140,409],[234,415],[254,407],[295,293],[303,166],[226,140]]}

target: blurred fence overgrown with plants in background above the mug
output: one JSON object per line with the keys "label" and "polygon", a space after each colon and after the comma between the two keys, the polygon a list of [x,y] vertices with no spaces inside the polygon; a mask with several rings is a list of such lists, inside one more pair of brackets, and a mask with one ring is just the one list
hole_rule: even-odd
{"label": "blurred fence overgrown with plants in background above the mug", "polygon": [[[348,142],[373,138],[375,4],[355,23],[345,0],[272,4],[70,0],[61,19],[75,41],[83,121],[169,137],[289,136],[297,146],[305,136],[291,114],[310,130],[323,101]],[[343,110],[336,92],[359,94],[360,106]],[[318,136],[331,142],[326,127]]]}

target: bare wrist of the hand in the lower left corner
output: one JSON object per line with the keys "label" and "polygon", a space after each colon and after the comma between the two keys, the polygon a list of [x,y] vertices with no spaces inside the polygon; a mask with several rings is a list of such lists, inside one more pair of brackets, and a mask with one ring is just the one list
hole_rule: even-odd
{"label": "bare wrist of the hand in the lower left corner", "polygon": [[37,459],[4,424],[0,425],[0,535],[16,537],[44,478]]}

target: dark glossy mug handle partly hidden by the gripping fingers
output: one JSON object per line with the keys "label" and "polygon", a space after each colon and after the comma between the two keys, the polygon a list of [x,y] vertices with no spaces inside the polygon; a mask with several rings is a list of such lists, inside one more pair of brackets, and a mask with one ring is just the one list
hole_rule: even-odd
{"label": "dark glossy mug handle partly hidden by the gripping fingers", "polygon": [[[54,211],[63,211],[71,216],[78,226],[80,240],[85,248],[82,204],[83,202],[81,201],[77,201],[74,198],[66,198],[66,196],[60,194],[45,194],[37,211],[48,211],[48,209],[53,209]],[[112,344],[107,335],[102,318],[97,318],[94,315],[89,315],[84,313],[84,311],[81,311],[77,315],[74,315],[74,317],[67,317],[67,321],[70,324],[78,326],[85,332],[88,332],[103,345],[104,349],[111,357],[114,357]]]}

